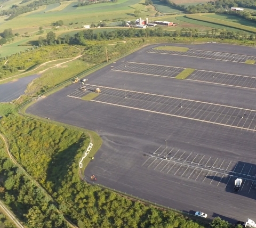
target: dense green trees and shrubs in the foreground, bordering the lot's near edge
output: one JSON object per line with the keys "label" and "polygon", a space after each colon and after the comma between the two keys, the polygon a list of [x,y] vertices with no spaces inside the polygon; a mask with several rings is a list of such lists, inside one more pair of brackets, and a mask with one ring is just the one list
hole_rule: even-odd
{"label": "dense green trees and shrubs in the foreground, bordering the lot's near edge", "polygon": [[[6,136],[11,135],[11,152],[19,163],[51,194],[63,215],[79,228],[204,228],[200,222],[172,210],[81,181],[78,162],[90,142],[83,132],[12,113],[2,118],[0,124]],[[27,227],[67,227],[54,203],[3,153],[0,155],[0,197],[21,221]],[[215,218],[210,227],[235,228],[220,218]]]}

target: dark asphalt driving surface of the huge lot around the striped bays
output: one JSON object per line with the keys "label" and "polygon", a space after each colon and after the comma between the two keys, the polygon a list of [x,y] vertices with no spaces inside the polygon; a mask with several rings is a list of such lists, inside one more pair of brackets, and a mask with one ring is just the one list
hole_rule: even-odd
{"label": "dark asphalt driving surface of the huge lot around the striped bays", "polygon": [[[27,112],[98,132],[103,144],[95,159],[87,166],[85,174],[88,177],[97,175],[98,182],[103,185],[190,213],[203,210],[210,217],[221,216],[230,222],[236,219],[244,221],[247,217],[255,221],[256,192],[251,189],[251,184],[256,176],[256,141],[252,131],[202,123],[196,120],[197,117],[184,119],[179,115],[174,117],[149,112],[151,108],[143,108],[142,103],[139,104],[141,110],[131,109],[131,106],[139,107],[133,101],[142,101],[146,96],[130,97],[126,94],[126,91],[137,91],[189,99],[197,101],[191,105],[202,110],[204,108],[198,102],[229,105],[235,107],[233,110],[254,111],[256,100],[253,89],[113,71],[130,61],[158,64],[163,68],[191,67],[254,77],[255,66],[147,53],[154,46],[142,48],[87,77],[95,87],[119,89],[119,92],[111,93],[108,98],[103,92],[95,99],[103,99],[101,101],[105,103],[79,99],[79,85],[73,84],[38,101]],[[236,54],[253,55],[255,52],[255,48],[223,44],[183,46]],[[161,105],[161,101],[150,102]],[[219,115],[225,110],[221,110]],[[218,110],[213,108],[211,113],[215,115]],[[228,115],[237,117],[238,114],[234,113],[224,113],[223,118]],[[254,116],[250,118],[253,121],[255,119]],[[168,160],[163,161],[161,156],[165,154],[166,139]],[[157,158],[150,158],[152,155]],[[180,161],[185,163],[180,164]],[[197,167],[194,163],[197,163]],[[234,193],[232,188],[237,176],[242,177],[244,182],[241,191]]]}

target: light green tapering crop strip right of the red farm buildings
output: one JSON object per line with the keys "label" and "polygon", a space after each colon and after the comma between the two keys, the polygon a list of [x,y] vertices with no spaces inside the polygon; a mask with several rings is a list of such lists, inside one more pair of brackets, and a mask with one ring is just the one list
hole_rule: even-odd
{"label": "light green tapering crop strip right of the red farm buildings", "polygon": [[[192,15],[186,15],[186,18],[203,21],[203,22],[210,22],[216,25],[226,25],[229,28],[235,28],[235,29],[244,30],[248,32],[254,32],[254,33],[256,32],[256,28],[239,25],[238,23],[227,21],[225,19],[212,18],[212,17],[209,17],[209,15],[215,15],[215,14],[204,14],[204,15],[192,14]],[[218,15],[218,17],[220,16]]]}

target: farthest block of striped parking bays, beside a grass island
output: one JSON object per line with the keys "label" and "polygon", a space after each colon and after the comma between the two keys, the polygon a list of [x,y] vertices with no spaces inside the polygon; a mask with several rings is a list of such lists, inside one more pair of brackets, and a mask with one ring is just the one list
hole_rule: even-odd
{"label": "farthest block of striped parking bays, beside a grass island", "polygon": [[166,51],[166,50],[157,50],[157,49],[151,49],[147,52],[157,53],[157,54],[166,54],[166,55],[189,56],[194,58],[214,59],[214,60],[239,62],[239,63],[244,63],[246,60],[256,60],[256,56],[196,50],[193,48],[189,49],[187,52],[175,52],[175,51]]}

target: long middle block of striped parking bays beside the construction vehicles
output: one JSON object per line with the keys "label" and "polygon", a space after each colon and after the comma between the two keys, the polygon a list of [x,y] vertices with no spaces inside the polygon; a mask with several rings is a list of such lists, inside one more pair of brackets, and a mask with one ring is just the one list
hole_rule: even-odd
{"label": "long middle block of striped parking bays beside the construction vehicles", "polygon": [[[97,87],[99,86],[87,85],[89,92],[94,91]],[[256,131],[256,110],[188,100],[181,97],[135,92],[126,89],[109,87],[100,87],[100,89],[101,93],[93,99],[94,102],[119,105],[121,107],[246,129],[253,132]],[[77,89],[77,91],[68,96],[81,98],[86,93],[88,92],[82,92]]]}

